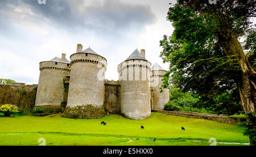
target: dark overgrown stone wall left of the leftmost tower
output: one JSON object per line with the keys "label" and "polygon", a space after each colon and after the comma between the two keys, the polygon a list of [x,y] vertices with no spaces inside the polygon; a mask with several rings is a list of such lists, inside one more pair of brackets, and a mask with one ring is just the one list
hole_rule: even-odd
{"label": "dark overgrown stone wall left of the leftmost tower", "polygon": [[12,104],[19,108],[34,107],[37,84],[0,85],[0,105]]}

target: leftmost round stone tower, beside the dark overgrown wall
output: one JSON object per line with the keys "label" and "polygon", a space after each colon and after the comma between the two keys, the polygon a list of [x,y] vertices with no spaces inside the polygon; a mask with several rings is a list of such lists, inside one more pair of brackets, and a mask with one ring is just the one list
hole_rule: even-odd
{"label": "leftmost round stone tower, beside the dark overgrown wall", "polygon": [[61,105],[63,101],[64,85],[63,79],[69,75],[69,61],[62,57],[55,57],[51,61],[39,63],[39,82],[36,92],[35,106]]}

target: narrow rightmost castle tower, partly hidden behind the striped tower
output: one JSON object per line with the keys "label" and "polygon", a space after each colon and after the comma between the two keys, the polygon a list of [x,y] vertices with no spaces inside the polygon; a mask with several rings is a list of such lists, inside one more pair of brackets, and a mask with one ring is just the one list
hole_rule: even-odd
{"label": "narrow rightmost castle tower, partly hidden behind the striped tower", "polygon": [[160,92],[159,89],[163,82],[163,75],[166,72],[158,63],[155,63],[151,68],[151,88],[154,95],[154,100],[151,101],[152,109],[164,109],[164,104],[170,100],[169,89],[163,88],[163,92]]}

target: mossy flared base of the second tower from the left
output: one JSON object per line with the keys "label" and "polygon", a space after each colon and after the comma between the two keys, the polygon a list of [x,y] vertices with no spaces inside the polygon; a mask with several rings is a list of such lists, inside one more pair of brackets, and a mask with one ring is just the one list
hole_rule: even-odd
{"label": "mossy flared base of the second tower from the left", "polygon": [[105,115],[105,110],[102,107],[95,107],[93,105],[78,105],[76,107],[66,107],[63,117],[67,118],[79,118],[79,119],[89,119],[89,118],[101,118]]}

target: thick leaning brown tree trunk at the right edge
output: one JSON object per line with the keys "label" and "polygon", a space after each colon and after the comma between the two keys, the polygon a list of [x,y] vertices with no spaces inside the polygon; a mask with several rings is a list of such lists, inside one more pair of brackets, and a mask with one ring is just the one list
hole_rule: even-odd
{"label": "thick leaning brown tree trunk at the right edge", "polygon": [[[237,80],[241,105],[245,113],[249,112],[249,114],[246,114],[246,120],[250,123],[250,125],[247,125],[247,129],[256,129],[256,72],[251,67],[234,32],[225,33],[225,35],[224,33],[218,33],[217,36],[226,56],[230,58],[236,57],[238,65],[241,67],[241,78]],[[249,136],[249,138],[250,145],[255,146],[255,137]]]}

